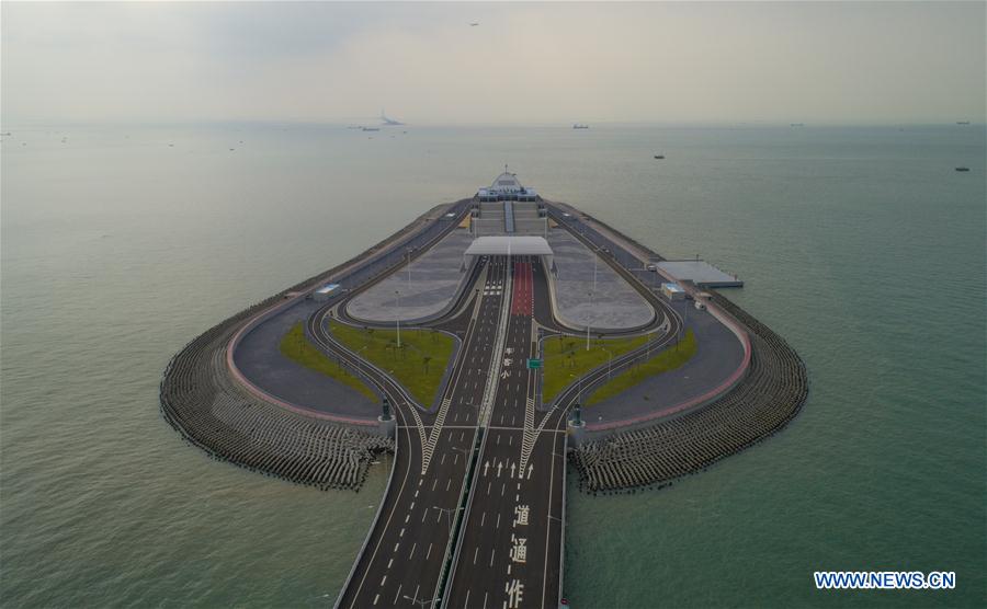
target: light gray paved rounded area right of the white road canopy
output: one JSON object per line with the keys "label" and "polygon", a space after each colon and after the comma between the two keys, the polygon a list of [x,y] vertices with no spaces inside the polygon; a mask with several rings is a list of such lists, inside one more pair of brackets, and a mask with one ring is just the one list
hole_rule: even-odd
{"label": "light gray paved rounded area right of the white road canopy", "polygon": [[[597,261],[593,290],[593,253],[568,231],[548,231],[555,253],[558,314],[575,326],[622,330],[648,323],[654,311],[644,298],[602,260]],[[589,294],[593,291],[593,297]]]}

